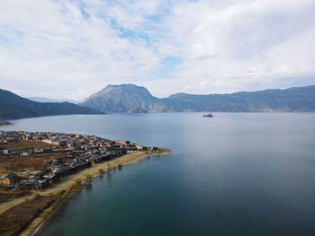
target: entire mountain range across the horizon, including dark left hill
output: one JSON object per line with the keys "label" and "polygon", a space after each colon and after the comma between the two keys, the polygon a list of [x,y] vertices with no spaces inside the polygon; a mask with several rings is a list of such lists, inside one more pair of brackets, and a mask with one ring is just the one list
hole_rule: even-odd
{"label": "entire mountain range across the horizon, including dark left hill", "polygon": [[105,112],[181,111],[315,111],[315,85],[231,94],[195,95],[180,92],[163,99],[154,97],[145,87],[134,84],[108,85],[77,105],[67,101],[31,101],[0,89],[0,120]]}

